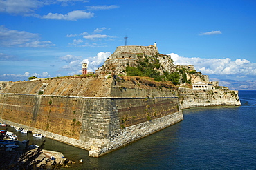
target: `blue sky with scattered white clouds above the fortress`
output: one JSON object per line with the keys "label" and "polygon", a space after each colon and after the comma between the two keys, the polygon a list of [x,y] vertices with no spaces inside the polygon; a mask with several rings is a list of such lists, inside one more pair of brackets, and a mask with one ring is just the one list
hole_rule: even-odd
{"label": "blue sky with scattered white clouds above the fortress", "polygon": [[95,72],[116,47],[154,45],[210,80],[256,80],[255,0],[0,0],[0,81]]}

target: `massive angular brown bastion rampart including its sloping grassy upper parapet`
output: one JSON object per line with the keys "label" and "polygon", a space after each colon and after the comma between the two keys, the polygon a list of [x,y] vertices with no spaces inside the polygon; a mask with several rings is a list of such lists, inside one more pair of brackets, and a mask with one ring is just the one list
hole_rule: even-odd
{"label": "massive angular brown bastion rampart including its sloping grassy upper parapet", "polygon": [[[165,87],[162,91],[166,96],[159,96],[160,89],[145,83],[136,83],[140,87],[135,88],[127,81],[127,91],[123,92],[124,88],[119,87],[125,82],[118,84],[112,78],[82,81],[100,86],[98,91],[109,88],[109,97],[82,96],[78,88],[81,85],[68,78],[15,83],[0,94],[1,121],[87,149],[90,156],[98,157],[183,120],[178,98]],[[16,93],[18,89],[24,94]],[[39,90],[44,94],[35,94]],[[134,97],[138,91],[141,93]],[[81,96],[60,95],[65,92]]]}

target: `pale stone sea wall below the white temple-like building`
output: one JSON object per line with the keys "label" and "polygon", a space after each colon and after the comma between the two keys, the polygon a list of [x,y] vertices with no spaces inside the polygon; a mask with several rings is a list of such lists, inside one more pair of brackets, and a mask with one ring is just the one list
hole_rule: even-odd
{"label": "pale stone sea wall below the white temple-like building", "polygon": [[181,88],[179,90],[179,103],[181,109],[217,105],[241,105],[238,91],[228,89],[192,90]]}

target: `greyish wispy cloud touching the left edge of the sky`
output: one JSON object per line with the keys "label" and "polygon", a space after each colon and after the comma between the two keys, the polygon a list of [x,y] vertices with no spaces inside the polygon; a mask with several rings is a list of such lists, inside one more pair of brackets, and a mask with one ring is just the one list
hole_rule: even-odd
{"label": "greyish wispy cloud touching the left edge of the sky", "polygon": [[0,45],[3,47],[51,47],[55,46],[51,41],[39,41],[39,34],[25,31],[9,30],[0,26]]}

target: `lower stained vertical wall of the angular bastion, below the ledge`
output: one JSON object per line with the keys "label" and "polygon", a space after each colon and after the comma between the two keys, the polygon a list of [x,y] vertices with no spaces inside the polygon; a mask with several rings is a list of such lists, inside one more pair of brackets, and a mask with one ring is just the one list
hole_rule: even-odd
{"label": "lower stained vertical wall of the angular bastion, below the ledge", "polygon": [[[179,122],[183,118],[177,105],[177,98],[86,98],[3,93],[0,94],[0,118],[10,125],[90,150],[90,156],[100,156],[137,140],[138,136],[142,138]],[[170,118],[178,112],[179,119],[174,116],[169,120],[171,124],[162,122],[154,128],[153,124],[147,123],[163,121],[166,116]],[[145,130],[150,125],[150,131],[140,133],[137,129],[127,139],[116,132],[141,123]],[[118,141],[114,142],[113,138]]]}

